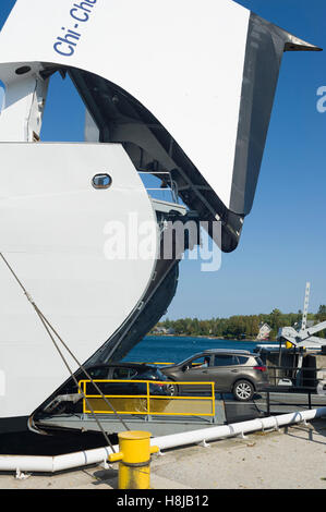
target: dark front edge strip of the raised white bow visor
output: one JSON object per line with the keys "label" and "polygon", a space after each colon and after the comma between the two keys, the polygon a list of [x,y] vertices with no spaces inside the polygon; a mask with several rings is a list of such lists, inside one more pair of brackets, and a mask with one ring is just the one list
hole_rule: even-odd
{"label": "dark front edge strip of the raised white bow visor", "polygon": [[285,51],[321,51],[251,13],[229,209],[252,208]]}

